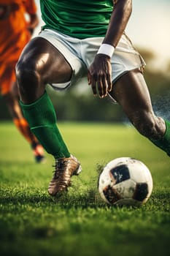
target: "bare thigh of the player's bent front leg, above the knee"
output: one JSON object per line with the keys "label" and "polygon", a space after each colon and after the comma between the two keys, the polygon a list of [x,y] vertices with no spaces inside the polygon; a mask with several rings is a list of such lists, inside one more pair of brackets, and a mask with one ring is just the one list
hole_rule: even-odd
{"label": "bare thigh of the player's bent front leg, above the knee", "polygon": [[72,77],[72,68],[62,53],[40,37],[32,39],[24,48],[17,64],[17,73],[23,69],[35,71],[42,83],[65,83]]}

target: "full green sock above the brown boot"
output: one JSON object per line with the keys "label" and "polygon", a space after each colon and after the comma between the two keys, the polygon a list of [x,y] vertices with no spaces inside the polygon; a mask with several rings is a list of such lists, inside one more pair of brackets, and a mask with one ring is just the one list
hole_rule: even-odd
{"label": "full green sock above the brown boot", "polygon": [[55,110],[47,92],[45,91],[45,94],[36,102],[29,105],[20,102],[20,106],[31,131],[45,150],[57,159],[70,157],[69,150],[56,125]]}

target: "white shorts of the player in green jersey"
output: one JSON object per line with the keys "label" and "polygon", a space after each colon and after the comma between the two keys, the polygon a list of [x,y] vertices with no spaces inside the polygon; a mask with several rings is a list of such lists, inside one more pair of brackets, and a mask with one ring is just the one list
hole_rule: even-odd
{"label": "white shorts of the player in green jersey", "polygon": [[[66,61],[72,67],[72,79],[67,83],[56,83],[54,89],[62,90],[69,87],[72,83],[78,83],[81,78],[86,78],[88,83],[88,67],[93,62],[98,48],[103,41],[103,37],[90,37],[86,39],[77,39],[69,37],[66,34],[58,33],[52,29],[45,29],[37,37],[47,39],[64,56]],[[145,65],[142,56],[134,49],[131,40],[123,34],[115,48],[111,59],[112,64],[112,82],[120,78],[130,70],[142,68]]]}

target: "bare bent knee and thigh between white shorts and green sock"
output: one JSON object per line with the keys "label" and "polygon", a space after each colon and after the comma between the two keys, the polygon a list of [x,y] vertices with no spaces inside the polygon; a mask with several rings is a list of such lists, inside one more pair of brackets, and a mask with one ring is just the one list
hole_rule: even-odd
{"label": "bare bent knee and thigh between white shorts and green sock", "polygon": [[68,82],[72,77],[72,68],[50,42],[34,38],[20,56],[16,75],[20,99],[30,104],[44,94],[47,83]]}

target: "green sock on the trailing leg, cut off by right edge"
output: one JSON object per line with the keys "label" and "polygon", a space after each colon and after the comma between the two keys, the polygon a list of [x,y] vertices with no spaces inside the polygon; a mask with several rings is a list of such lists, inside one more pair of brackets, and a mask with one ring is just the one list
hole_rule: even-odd
{"label": "green sock on the trailing leg, cut off by right edge", "polygon": [[163,138],[160,140],[152,140],[152,143],[155,144],[155,146],[158,146],[158,148],[161,148],[163,151],[166,152],[166,154],[170,157],[170,122],[165,120],[166,124],[166,132],[163,135]]}

